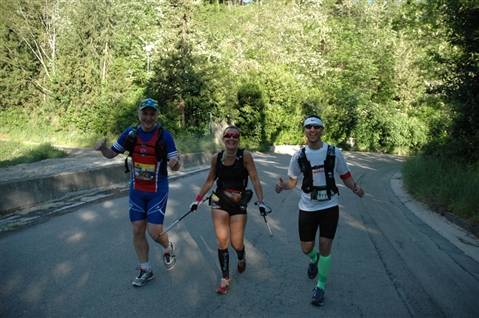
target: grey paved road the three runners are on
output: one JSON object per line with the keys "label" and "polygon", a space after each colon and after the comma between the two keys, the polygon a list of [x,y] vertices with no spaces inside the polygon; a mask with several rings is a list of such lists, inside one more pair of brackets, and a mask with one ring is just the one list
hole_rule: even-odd
{"label": "grey paved road the three runners are on", "polygon": [[[340,223],[322,307],[309,304],[315,281],[306,275],[308,259],[297,234],[300,189],[274,192],[290,156],[255,154],[273,208],[273,237],[251,206],[247,269],[232,270],[227,295],[214,292],[220,270],[206,205],[169,232],[176,267],[167,271],[161,247],[153,246],[155,279],[131,286],[138,265],[125,191],[1,236],[0,317],[477,317],[477,246],[461,250],[398,198],[391,180],[401,157],[346,158],[366,196],[340,186]],[[166,226],[188,211],[206,173],[171,181]]]}

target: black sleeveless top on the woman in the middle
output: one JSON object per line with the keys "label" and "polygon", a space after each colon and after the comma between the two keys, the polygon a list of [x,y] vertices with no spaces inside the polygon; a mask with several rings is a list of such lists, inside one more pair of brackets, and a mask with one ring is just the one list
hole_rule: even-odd
{"label": "black sleeveless top on the woman in the middle", "polygon": [[[231,166],[223,165],[224,150],[218,152],[216,157],[216,177],[218,178],[216,185],[220,189],[230,189],[244,191],[248,185],[248,170],[244,166],[243,160],[244,149],[238,149],[236,160]],[[228,175],[224,175],[228,173]],[[225,177],[228,179],[225,180]]]}

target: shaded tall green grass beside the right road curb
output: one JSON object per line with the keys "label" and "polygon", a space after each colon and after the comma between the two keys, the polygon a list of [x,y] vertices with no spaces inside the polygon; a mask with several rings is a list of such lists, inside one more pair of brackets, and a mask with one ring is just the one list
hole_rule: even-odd
{"label": "shaded tall green grass beside the right road curb", "polygon": [[479,225],[479,165],[431,156],[409,157],[402,168],[404,185],[416,198]]}

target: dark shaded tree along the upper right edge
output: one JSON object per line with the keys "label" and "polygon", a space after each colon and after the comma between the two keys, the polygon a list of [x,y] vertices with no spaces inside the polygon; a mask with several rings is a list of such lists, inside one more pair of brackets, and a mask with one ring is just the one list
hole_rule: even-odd
{"label": "dark shaded tree along the upper right edge", "polygon": [[428,21],[439,14],[450,45],[436,55],[444,67],[443,82],[434,88],[449,106],[452,119],[450,140],[444,142],[443,150],[474,163],[479,160],[479,3],[442,0],[428,2],[426,9]]}

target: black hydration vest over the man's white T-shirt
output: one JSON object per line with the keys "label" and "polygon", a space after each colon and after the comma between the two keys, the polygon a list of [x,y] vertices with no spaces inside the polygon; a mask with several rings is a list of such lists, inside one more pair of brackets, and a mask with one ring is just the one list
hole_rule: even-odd
{"label": "black hydration vest over the man's white T-shirt", "polygon": [[[328,152],[326,155],[326,160],[324,160],[324,174],[326,176],[326,192],[328,194],[328,199],[331,199],[331,196],[338,193],[339,189],[336,186],[336,181],[334,180],[334,164],[336,161],[335,147],[333,145],[328,145]],[[311,193],[313,191],[313,169],[311,163],[306,157],[306,147],[301,149],[299,154],[298,164],[303,173],[303,185],[301,190],[305,193]],[[322,166],[318,166],[321,168]]]}

